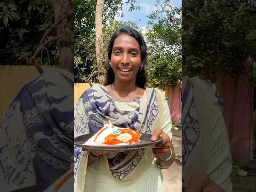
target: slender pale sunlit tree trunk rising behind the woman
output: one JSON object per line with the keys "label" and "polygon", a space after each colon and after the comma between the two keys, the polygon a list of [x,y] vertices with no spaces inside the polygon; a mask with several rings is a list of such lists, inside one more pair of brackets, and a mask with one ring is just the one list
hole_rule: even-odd
{"label": "slender pale sunlit tree trunk rising behind the woman", "polygon": [[102,39],[102,14],[105,0],[97,0],[96,11],[95,11],[95,51],[97,59],[97,67],[99,71],[99,83],[105,82],[105,76],[103,69],[103,39]]}

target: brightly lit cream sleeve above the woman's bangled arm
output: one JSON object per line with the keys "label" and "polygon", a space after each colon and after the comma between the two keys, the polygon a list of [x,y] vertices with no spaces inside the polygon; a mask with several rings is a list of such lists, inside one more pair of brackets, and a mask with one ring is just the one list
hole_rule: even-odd
{"label": "brightly lit cream sleeve above the woman's bangled arm", "polygon": [[163,125],[162,125],[162,130],[165,132],[167,135],[172,140],[172,121],[171,121],[171,113],[170,109],[167,103],[166,97],[164,98],[164,113],[163,113]]}

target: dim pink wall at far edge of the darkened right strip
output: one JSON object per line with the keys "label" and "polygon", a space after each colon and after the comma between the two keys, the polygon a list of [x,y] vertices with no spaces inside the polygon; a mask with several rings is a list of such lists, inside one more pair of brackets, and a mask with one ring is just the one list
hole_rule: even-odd
{"label": "dim pink wall at far edge of the darkened right strip", "polygon": [[[252,72],[252,63],[246,62],[246,74]],[[225,79],[224,117],[229,132],[231,102],[233,98],[233,79]],[[230,150],[235,162],[247,163],[250,161],[250,141],[252,136],[253,114],[253,84],[249,77],[244,75],[238,79],[237,102],[233,134],[230,138]]]}

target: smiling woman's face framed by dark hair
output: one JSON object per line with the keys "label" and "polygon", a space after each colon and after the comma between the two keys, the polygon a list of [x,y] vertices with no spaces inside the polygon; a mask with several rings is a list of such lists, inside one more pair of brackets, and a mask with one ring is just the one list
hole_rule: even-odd
{"label": "smiling woman's face framed by dark hair", "polygon": [[113,44],[110,63],[115,73],[115,81],[135,80],[142,67],[137,40],[130,35],[119,35]]}

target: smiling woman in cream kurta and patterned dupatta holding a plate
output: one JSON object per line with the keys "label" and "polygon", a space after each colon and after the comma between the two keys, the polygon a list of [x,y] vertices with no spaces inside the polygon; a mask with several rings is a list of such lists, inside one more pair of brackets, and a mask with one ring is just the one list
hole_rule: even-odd
{"label": "smiling woman in cream kurta and patterned dupatta holding a plate", "polygon": [[77,102],[75,137],[97,132],[109,119],[116,126],[153,134],[152,141],[162,137],[163,143],[117,153],[82,151],[76,159],[75,191],[164,191],[161,169],[175,159],[170,111],[163,92],[145,89],[143,37],[131,27],[118,29],[110,39],[108,59],[106,85],[91,87]]}

